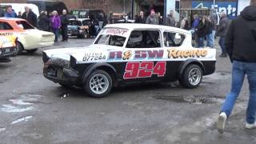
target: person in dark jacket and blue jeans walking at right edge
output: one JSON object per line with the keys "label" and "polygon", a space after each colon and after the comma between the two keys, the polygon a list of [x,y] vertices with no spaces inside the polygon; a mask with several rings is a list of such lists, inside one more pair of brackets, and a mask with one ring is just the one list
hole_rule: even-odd
{"label": "person in dark jacket and blue jeans walking at right edge", "polygon": [[234,108],[245,75],[249,82],[250,97],[246,110],[246,129],[256,128],[256,0],[251,0],[240,16],[230,24],[226,34],[226,51],[233,63],[230,94],[218,116],[218,132],[222,134],[226,119]]}

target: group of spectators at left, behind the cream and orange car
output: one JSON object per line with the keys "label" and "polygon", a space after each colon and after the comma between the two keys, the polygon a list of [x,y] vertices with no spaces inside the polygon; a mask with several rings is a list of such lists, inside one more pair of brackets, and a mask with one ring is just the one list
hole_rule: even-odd
{"label": "group of spectators at left, behind the cream and orange car", "polygon": [[63,10],[62,15],[59,16],[58,12],[54,10],[50,14],[47,11],[42,11],[39,16],[34,14],[30,7],[25,6],[25,12],[16,12],[13,10],[12,6],[6,6],[6,11],[2,12],[0,17],[5,18],[22,18],[38,30],[51,31],[55,34],[54,42],[58,42],[59,30],[62,32],[62,41],[66,42],[68,40],[67,36],[67,26],[69,24],[69,17],[67,11]]}

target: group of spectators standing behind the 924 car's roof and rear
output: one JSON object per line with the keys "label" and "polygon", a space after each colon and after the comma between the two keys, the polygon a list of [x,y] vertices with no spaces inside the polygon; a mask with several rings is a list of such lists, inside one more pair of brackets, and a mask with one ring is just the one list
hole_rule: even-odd
{"label": "group of spectators standing behind the 924 car's roof and rear", "polygon": [[184,30],[191,30],[193,34],[196,35],[195,41],[197,42],[197,47],[201,48],[206,46],[214,48],[214,41],[216,36],[219,36],[219,45],[222,48],[222,54],[220,57],[226,57],[226,49],[224,46],[225,37],[227,30],[230,26],[230,20],[227,18],[226,13],[222,12],[220,15],[220,20],[218,22],[218,15],[215,10],[210,10],[209,15],[198,16],[195,14],[193,16],[194,21],[191,26],[187,18],[182,18],[182,21],[179,23],[174,18],[174,10],[170,10],[164,23],[160,13],[155,13],[154,10],[150,10],[150,15],[146,18],[143,11],[140,11],[140,14],[135,18],[135,23],[146,23],[154,25],[165,25],[165,26],[174,26],[179,27]]}

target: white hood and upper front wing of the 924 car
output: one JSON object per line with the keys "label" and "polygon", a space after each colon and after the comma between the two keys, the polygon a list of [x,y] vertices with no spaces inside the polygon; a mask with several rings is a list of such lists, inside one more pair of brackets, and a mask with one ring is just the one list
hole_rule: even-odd
{"label": "white hood and upper front wing of the 924 car", "polygon": [[[53,50],[44,50],[48,58],[60,58],[66,61],[70,61],[70,56],[76,59],[77,63],[86,63],[86,62],[103,62],[106,61],[109,51],[113,50],[122,50],[122,47],[118,46],[106,46],[106,45],[91,45],[87,47],[74,47],[74,48],[62,48],[62,49],[53,49]],[[102,56],[104,59],[86,61],[85,57],[90,56]]]}

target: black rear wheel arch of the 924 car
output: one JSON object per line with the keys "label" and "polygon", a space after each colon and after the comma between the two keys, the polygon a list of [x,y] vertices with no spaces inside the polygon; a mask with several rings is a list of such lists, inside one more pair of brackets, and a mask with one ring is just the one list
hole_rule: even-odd
{"label": "black rear wheel arch of the 924 car", "polygon": [[182,65],[178,69],[178,78],[182,77],[182,74],[184,70],[186,70],[187,66],[190,66],[191,64],[198,65],[202,69],[202,74],[205,74],[205,66],[202,62],[198,61],[197,59],[188,59],[185,62],[182,62]]}

